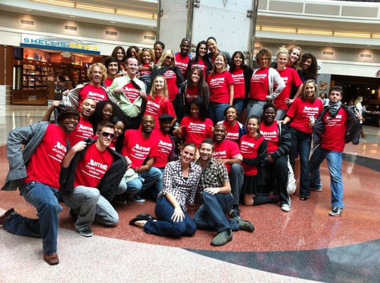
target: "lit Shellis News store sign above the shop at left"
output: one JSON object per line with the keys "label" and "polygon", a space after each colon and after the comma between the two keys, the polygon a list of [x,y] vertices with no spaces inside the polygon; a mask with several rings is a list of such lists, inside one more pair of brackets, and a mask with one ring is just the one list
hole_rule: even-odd
{"label": "lit Shellis News store sign above the shop at left", "polygon": [[99,45],[95,42],[43,35],[21,35],[21,47],[100,54]]}

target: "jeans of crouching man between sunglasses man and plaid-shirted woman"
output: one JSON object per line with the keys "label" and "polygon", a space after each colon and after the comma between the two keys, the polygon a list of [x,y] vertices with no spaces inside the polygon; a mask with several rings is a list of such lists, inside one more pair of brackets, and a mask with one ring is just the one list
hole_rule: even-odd
{"label": "jeans of crouching man between sunglasses man and plaid-shirted woman", "polygon": [[[140,178],[135,178],[128,181],[127,195],[141,195],[145,192],[152,200],[157,199],[157,195],[160,192],[160,185],[153,184],[162,182],[162,173],[159,168],[151,167],[148,171],[140,174]],[[150,190],[148,190],[150,189]]]}

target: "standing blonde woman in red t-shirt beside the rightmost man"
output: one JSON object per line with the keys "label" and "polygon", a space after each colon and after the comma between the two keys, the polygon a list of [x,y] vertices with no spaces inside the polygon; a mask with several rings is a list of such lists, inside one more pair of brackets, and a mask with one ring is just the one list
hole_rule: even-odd
{"label": "standing blonde woman in red t-shirt beside the rightmost man", "polygon": [[317,84],[313,79],[303,83],[301,96],[296,98],[286,112],[284,124],[289,123],[291,132],[291,150],[289,161],[294,170],[296,155],[301,163],[300,200],[310,197],[309,155],[311,150],[311,132],[314,121],[323,111],[323,102],[318,99]]}

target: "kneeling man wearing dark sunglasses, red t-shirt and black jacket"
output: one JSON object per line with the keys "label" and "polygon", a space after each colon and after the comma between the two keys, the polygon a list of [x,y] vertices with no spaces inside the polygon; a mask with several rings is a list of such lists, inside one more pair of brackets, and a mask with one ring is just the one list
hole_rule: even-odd
{"label": "kneeling man wearing dark sunglasses, red t-shirt and black jacket", "polygon": [[[114,125],[101,122],[97,128],[98,139],[87,139],[75,144],[70,166],[62,169],[61,192],[70,214],[77,217],[75,230],[91,237],[91,224],[116,226],[118,213],[111,205],[118,185],[127,169],[124,156],[109,148],[115,137]],[[86,143],[83,149],[82,143]]]}

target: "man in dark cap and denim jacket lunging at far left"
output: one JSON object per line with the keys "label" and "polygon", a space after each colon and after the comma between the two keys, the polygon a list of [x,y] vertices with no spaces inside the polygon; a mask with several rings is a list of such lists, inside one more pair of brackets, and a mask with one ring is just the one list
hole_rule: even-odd
{"label": "man in dark cap and denim jacket lunging at far left", "polygon": [[[0,224],[9,233],[42,238],[43,259],[49,265],[60,262],[57,255],[58,214],[61,166],[67,165],[67,136],[77,127],[79,112],[65,108],[57,123],[38,122],[13,129],[8,137],[9,173],[1,190],[16,190],[37,209],[38,219],[30,219],[7,210]],[[86,145],[79,144],[79,149]],[[23,150],[21,146],[25,145]],[[69,153],[72,153],[70,149]]]}

